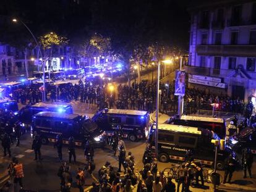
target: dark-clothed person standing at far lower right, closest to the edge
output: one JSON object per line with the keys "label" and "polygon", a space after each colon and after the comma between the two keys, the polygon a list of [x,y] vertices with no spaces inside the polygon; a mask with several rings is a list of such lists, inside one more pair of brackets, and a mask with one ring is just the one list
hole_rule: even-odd
{"label": "dark-clothed person standing at far lower right, closest to the edge", "polygon": [[249,177],[252,178],[252,163],[254,162],[254,155],[249,148],[245,148],[242,151],[242,166],[244,169],[244,178],[247,177],[247,170],[249,173]]}

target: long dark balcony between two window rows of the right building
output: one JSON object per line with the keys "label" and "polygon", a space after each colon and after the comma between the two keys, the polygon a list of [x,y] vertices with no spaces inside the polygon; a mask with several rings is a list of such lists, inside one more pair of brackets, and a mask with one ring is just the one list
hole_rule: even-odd
{"label": "long dark balcony between two window rows of the right building", "polygon": [[256,45],[197,45],[197,54],[199,56],[256,57]]}

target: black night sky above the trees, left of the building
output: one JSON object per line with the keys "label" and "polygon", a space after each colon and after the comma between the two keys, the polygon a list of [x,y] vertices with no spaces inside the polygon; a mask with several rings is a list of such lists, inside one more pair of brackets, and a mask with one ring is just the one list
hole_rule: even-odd
{"label": "black night sky above the trees, left of the building", "polygon": [[[187,1],[179,0],[1,0],[0,41],[29,36],[12,17],[22,19],[35,36],[55,31],[77,44],[93,33],[118,42],[161,42],[188,49]],[[121,43],[122,44],[122,43]]]}

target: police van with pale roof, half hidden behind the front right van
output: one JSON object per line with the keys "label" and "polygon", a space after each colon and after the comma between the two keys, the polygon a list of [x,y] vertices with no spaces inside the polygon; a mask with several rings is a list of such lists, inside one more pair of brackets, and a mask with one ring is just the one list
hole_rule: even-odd
{"label": "police van with pale roof, half hidden behind the front right van", "polygon": [[181,115],[181,118],[171,118],[169,123],[173,125],[205,128],[214,131],[221,139],[224,139],[226,136],[226,123],[225,120],[221,118]]}

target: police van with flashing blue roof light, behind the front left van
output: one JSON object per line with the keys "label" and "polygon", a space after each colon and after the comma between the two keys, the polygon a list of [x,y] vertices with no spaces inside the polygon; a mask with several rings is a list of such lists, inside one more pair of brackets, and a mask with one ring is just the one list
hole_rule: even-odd
{"label": "police van with flashing blue roof light, behind the front left van", "polygon": [[32,106],[26,106],[20,109],[20,120],[25,123],[25,125],[30,125],[33,115],[41,111],[53,111],[72,114],[73,108],[70,104],[64,102],[38,102]]}

